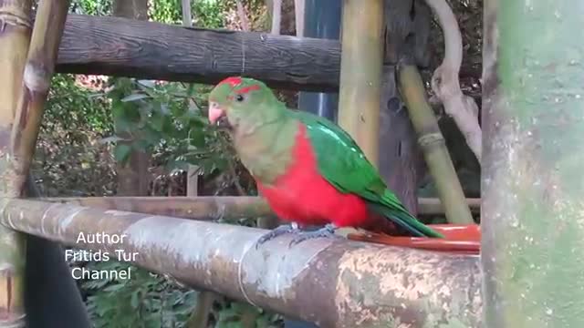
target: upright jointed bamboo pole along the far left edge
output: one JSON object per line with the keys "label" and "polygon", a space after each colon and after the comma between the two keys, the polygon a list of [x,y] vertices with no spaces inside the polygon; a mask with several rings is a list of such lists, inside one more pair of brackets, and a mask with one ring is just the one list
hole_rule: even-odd
{"label": "upright jointed bamboo pole along the far left edge", "polygon": [[[10,133],[22,92],[32,22],[31,1],[0,0],[0,197],[19,197]],[[0,227],[0,327],[24,327],[24,236]]]}

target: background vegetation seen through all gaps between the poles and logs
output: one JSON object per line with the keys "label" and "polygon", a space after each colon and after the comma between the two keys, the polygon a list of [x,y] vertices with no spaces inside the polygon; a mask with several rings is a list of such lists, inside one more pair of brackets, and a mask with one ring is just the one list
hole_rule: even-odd
{"label": "background vegetation seen through all gaps between the poles and logs", "polygon": [[[292,2],[287,1],[287,2]],[[286,2],[285,2],[286,3]],[[245,15],[254,30],[266,30],[268,15],[263,0],[243,1]],[[453,3],[464,36],[466,93],[480,99],[481,1]],[[111,0],[74,0],[71,12],[112,15]],[[293,7],[284,5],[282,34],[294,34]],[[292,10],[290,10],[292,8]],[[241,29],[235,0],[192,1],[194,25]],[[181,24],[179,0],[150,1],[150,19]],[[442,58],[442,36],[433,28],[433,60],[425,71],[430,77]],[[118,189],[117,162],[130,151],[151,154],[148,193],[152,196],[184,195],[188,164],[200,168],[203,195],[255,194],[255,186],[235,159],[222,132],[206,125],[204,109],[210,86],[162,81],[57,74],[47,103],[33,173],[44,195],[110,196]],[[282,93],[295,103],[295,94]],[[480,104],[480,101],[478,102]],[[442,112],[438,113],[443,116]],[[117,129],[114,132],[114,121]],[[478,196],[478,167],[464,139],[449,118],[440,120],[455,167],[469,197]],[[123,137],[120,137],[122,135]],[[120,143],[120,140],[126,141]],[[426,180],[421,194],[432,195]],[[110,270],[129,264],[116,261],[72,262],[72,266]],[[132,268],[128,281],[80,282],[96,327],[186,327],[196,293],[167,277]],[[251,314],[250,314],[251,313]],[[251,315],[251,316],[250,316]],[[221,299],[215,302],[210,326],[259,327],[280,325],[272,313]]]}

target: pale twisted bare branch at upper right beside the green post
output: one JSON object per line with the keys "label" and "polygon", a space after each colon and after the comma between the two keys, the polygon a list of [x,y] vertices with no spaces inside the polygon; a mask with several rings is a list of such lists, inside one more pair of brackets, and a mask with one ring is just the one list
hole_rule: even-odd
{"label": "pale twisted bare branch at upper right beside the green post", "polygon": [[445,0],[426,0],[438,17],[444,35],[444,58],[432,77],[432,89],[452,116],[466,139],[468,147],[481,163],[482,132],[478,124],[478,107],[472,97],[460,89],[458,73],[463,62],[463,40],[456,17]]}

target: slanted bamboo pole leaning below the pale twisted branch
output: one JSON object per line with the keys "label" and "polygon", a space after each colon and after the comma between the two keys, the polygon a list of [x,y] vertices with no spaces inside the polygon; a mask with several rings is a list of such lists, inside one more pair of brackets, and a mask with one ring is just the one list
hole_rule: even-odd
{"label": "slanted bamboo pole leaning below the pale twisted branch", "polygon": [[398,71],[401,95],[407,105],[413,128],[418,134],[426,164],[430,169],[440,200],[444,204],[446,220],[450,223],[470,224],[473,216],[464,198],[452,159],[438,128],[432,108],[426,101],[422,77],[418,68],[401,63]]}

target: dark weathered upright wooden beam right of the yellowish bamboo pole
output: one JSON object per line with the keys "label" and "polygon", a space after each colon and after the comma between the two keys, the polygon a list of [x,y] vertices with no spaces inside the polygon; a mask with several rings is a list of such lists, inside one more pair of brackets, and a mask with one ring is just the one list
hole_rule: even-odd
{"label": "dark weathered upright wooden beam right of the yellowish bamboo pole", "polygon": [[[412,10],[414,7],[415,10]],[[423,58],[418,54],[427,53],[431,16],[430,11],[423,8],[423,3],[414,0],[385,0],[384,3],[380,173],[403,206],[414,216],[418,214],[417,191],[422,176],[423,158],[408,110],[395,83],[395,66],[404,57],[415,58],[416,64],[421,64],[422,60],[419,59]],[[424,22],[426,25],[421,24]]]}

